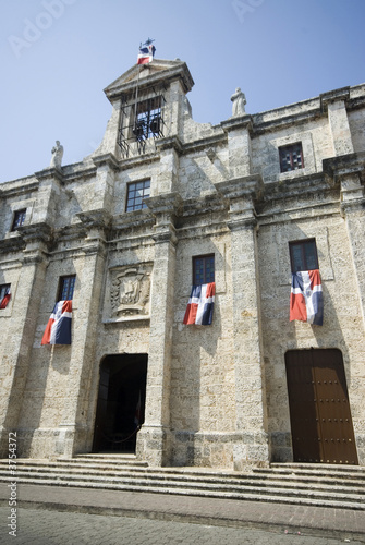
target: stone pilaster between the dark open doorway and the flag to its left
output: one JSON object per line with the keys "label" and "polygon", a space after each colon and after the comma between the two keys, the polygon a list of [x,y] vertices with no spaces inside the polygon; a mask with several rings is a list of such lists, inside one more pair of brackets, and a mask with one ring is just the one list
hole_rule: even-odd
{"label": "stone pilaster between the dark open doorway and the flag to its left", "polygon": [[88,396],[107,258],[105,238],[111,221],[106,210],[81,213],[78,217],[88,234],[83,247],[83,281],[77,299],[74,299],[68,398],[56,446],[57,453],[64,457],[89,448],[87,440],[90,434],[86,426]]}

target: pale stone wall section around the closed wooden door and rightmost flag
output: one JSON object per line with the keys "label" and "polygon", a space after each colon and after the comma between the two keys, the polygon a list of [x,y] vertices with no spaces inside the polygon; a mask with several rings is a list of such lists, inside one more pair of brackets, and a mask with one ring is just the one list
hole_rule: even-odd
{"label": "pale stone wall section around the closed wooden door and rightmost flag", "polygon": [[[330,195],[329,195],[330,197]],[[364,324],[356,279],[351,263],[348,232],[338,207],[328,206],[326,214],[320,199],[311,203],[312,218],[301,210],[304,202],[289,202],[259,230],[259,270],[263,304],[263,330],[267,407],[272,458],[292,459],[289,402],[284,354],[291,349],[338,348],[343,355],[358,456],[364,460],[364,391],[362,352],[365,349]],[[294,213],[291,206],[295,206]],[[287,208],[287,209],[288,209]],[[269,207],[265,210],[268,216]],[[290,258],[289,241],[316,238],[319,269],[324,289],[324,326],[289,322]],[[345,289],[343,289],[345,286]]]}

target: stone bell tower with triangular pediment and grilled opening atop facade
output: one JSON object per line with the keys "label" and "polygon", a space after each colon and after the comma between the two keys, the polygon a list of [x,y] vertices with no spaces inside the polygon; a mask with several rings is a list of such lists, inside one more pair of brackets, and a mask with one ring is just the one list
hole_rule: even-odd
{"label": "stone bell tower with triangular pediment and grilled opening atop facade", "polygon": [[105,88],[113,112],[97,154],[132,158],[154,153],[159,140],[178,136],[184,97],[193,85],[186,63],[179,59],[132,66]]}

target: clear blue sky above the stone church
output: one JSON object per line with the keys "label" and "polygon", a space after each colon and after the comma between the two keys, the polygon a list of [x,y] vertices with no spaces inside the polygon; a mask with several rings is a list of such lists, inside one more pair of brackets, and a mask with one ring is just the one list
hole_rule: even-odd
{"label": "clear blue sky above the stone church", "polygon": [[111,113],[102,89],[154,38],[156,57],[180,58],[195,86],[193,117],[247,113],[365,82],[365,0],[16,0],[0,4],[0,181],[63,165],[100,143]]}

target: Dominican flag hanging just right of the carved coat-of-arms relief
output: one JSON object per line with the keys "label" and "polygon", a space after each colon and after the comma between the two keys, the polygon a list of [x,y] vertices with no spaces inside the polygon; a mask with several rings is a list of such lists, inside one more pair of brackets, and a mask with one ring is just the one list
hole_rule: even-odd
{"label": "Dominican flag hanging just right of the carved coat-of-arms relief", "polygon": [[210,326],[215,307],[215,282],[193,286],[183,323]]}

